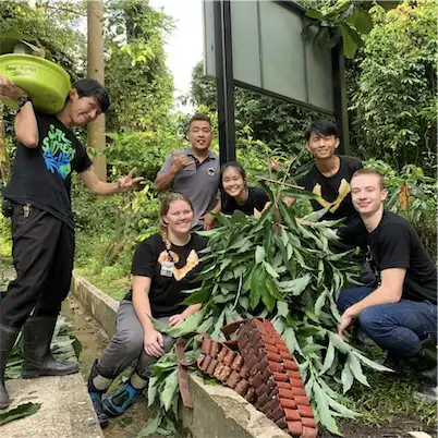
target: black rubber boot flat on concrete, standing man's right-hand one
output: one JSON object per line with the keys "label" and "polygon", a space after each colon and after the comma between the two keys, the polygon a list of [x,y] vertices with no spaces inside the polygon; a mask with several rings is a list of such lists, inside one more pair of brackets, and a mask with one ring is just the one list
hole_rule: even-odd
{"label": "black rubber boot flat on concrete, standing man's right-hand one", "polygon": [[24,362],[22,376],[32,379],[39,376],[66,376],[78,373],[75,362],[58,362],[50,351],[57,316],[31,316],[23,328]]}

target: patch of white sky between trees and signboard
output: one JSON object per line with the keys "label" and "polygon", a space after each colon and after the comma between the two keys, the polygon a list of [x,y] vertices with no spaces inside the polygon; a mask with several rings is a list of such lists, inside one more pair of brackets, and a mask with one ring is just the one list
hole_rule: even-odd
{"label": "patch of white sky between trees and signboard", "polygon": [[203,59],[203,0],[150,0],[173,19],[175,29],[167,39],[168,65],[175,96],[187,93],[193,66]]}

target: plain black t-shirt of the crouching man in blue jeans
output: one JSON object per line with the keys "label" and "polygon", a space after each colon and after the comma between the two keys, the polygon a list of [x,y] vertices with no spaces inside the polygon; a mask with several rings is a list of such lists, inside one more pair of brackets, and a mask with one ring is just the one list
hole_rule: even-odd
{"label": "plain black t-shirt of the crouching man in blue jeans", "polygon": [[415,230],[393,212],[385,212],[379,226],[368,234],[369,265],[375,273],[406,268],[404,300],[438,304],[438,269]]}

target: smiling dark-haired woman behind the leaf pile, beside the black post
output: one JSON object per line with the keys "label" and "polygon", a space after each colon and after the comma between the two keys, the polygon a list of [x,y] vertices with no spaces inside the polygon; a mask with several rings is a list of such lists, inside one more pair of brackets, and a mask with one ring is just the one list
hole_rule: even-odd
{"label": "smiling dark-haired woman behind the leaf pile, beside the black post", "polygon": [[221,211],[232,215],[241,210],[245,215],[257,216],[269,202],[263,187],[248,187],[246,173],[239,162],[230,161],[220,170],[223,194],[221,198]]}

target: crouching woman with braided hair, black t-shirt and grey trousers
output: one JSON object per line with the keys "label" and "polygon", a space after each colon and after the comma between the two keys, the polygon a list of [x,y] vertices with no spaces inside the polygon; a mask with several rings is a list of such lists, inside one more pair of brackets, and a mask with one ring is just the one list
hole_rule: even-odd
{"label": "crouching woman with braided hair, black t-shirt and grey trousers", "polygon": [[[120,303],[117,333],[102,355],[95,362],[88,392],[101,427],[108,425],[108,415],[122,414],[147,387],[148,368],[175,339],[157,331],[149,316],[171,326],[182,323],[197,312],[200,305],[184,306],[184,291],[199,284],[192,283],[199,271],[199,251],[207,239],[191,234],[192,203],[182,195],[170,193],[161,203],[161,233],[138,244],[133,261],[133,287]],[[127,366],[135,370],[113,396],[102,400],[112,380]]]}

